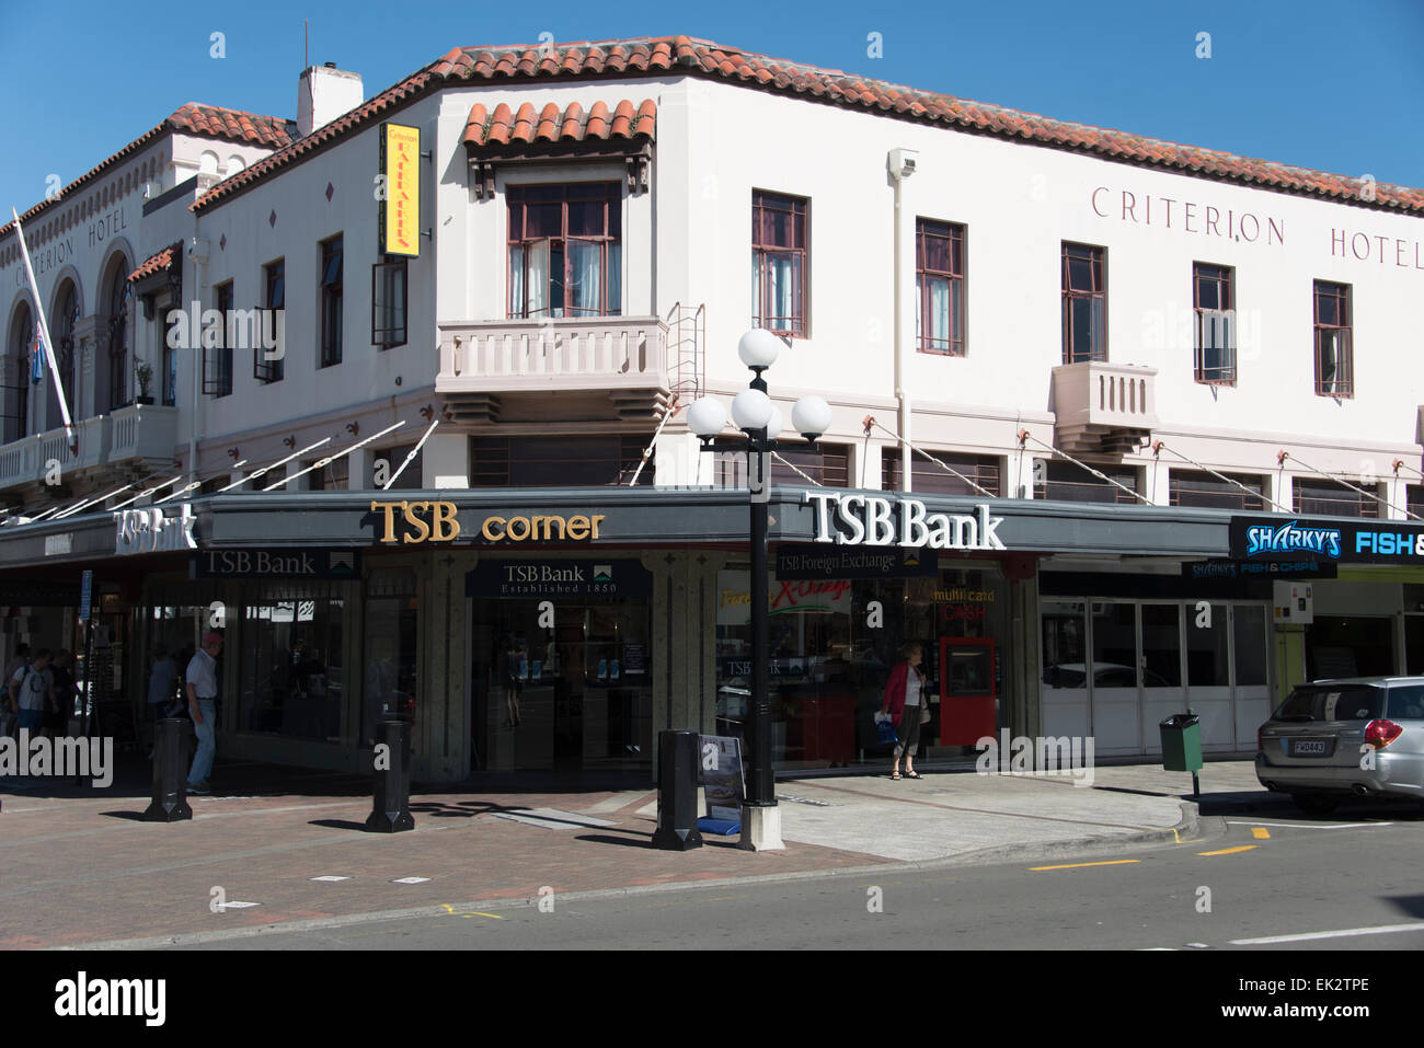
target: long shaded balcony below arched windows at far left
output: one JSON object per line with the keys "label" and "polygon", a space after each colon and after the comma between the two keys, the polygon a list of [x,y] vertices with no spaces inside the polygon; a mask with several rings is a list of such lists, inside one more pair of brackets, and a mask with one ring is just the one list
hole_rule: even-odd
{"label": "long shaded balcony below arched windows at far left", "polygon": [[100,474],[138,476],[172,463],[178,443],[178,409],[121,407],[74,424],[78,451],[70,450],[64,429],[47,430],[0,447],[0,490],[43,487],[51,463],[60,483],[70,487]]}

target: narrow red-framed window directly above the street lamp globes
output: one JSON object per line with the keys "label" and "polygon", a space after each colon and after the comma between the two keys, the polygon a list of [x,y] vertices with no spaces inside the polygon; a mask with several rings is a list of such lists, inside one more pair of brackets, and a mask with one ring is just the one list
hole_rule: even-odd
{"label": "narrow red-framed window directly above the street lamp globes", "polygon": [[805,337],[806,205],[799,197],[752,192],[752,326]]}

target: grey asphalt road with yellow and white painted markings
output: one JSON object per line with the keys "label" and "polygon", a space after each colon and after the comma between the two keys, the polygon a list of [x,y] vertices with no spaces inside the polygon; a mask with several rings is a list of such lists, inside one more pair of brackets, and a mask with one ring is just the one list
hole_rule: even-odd
{"label": "grey asphalt road with yellow and white painted markings", "polygon": [[[185,948],[1421,950],[1424,813],[1203,817],[1092,857],[449,907]],[[1045,869],[1048,867],[1048,869]]]}

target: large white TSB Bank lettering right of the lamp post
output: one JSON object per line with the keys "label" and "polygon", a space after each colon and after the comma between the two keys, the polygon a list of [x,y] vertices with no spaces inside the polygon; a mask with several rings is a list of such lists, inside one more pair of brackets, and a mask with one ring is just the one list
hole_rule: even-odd
{"label": "large white TSB Bank lettering right of the lamp post", "polygon": [[931,550],[1007,550],[1002,517],[980,503],[973,514],[928,513],[917,498],[806,491],[816,503],[816,541],[837,545],[903,545]]}

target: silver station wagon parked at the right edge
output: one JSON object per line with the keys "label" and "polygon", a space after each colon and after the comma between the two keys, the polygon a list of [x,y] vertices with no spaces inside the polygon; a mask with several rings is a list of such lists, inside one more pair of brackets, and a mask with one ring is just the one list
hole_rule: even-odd
{"label": "silver station wagon parked at the right edge", "polygon": [[1424,800],[1424,676],[1313,681],[1256,732],[1256,777],[1306,814],[1344,797]]}

